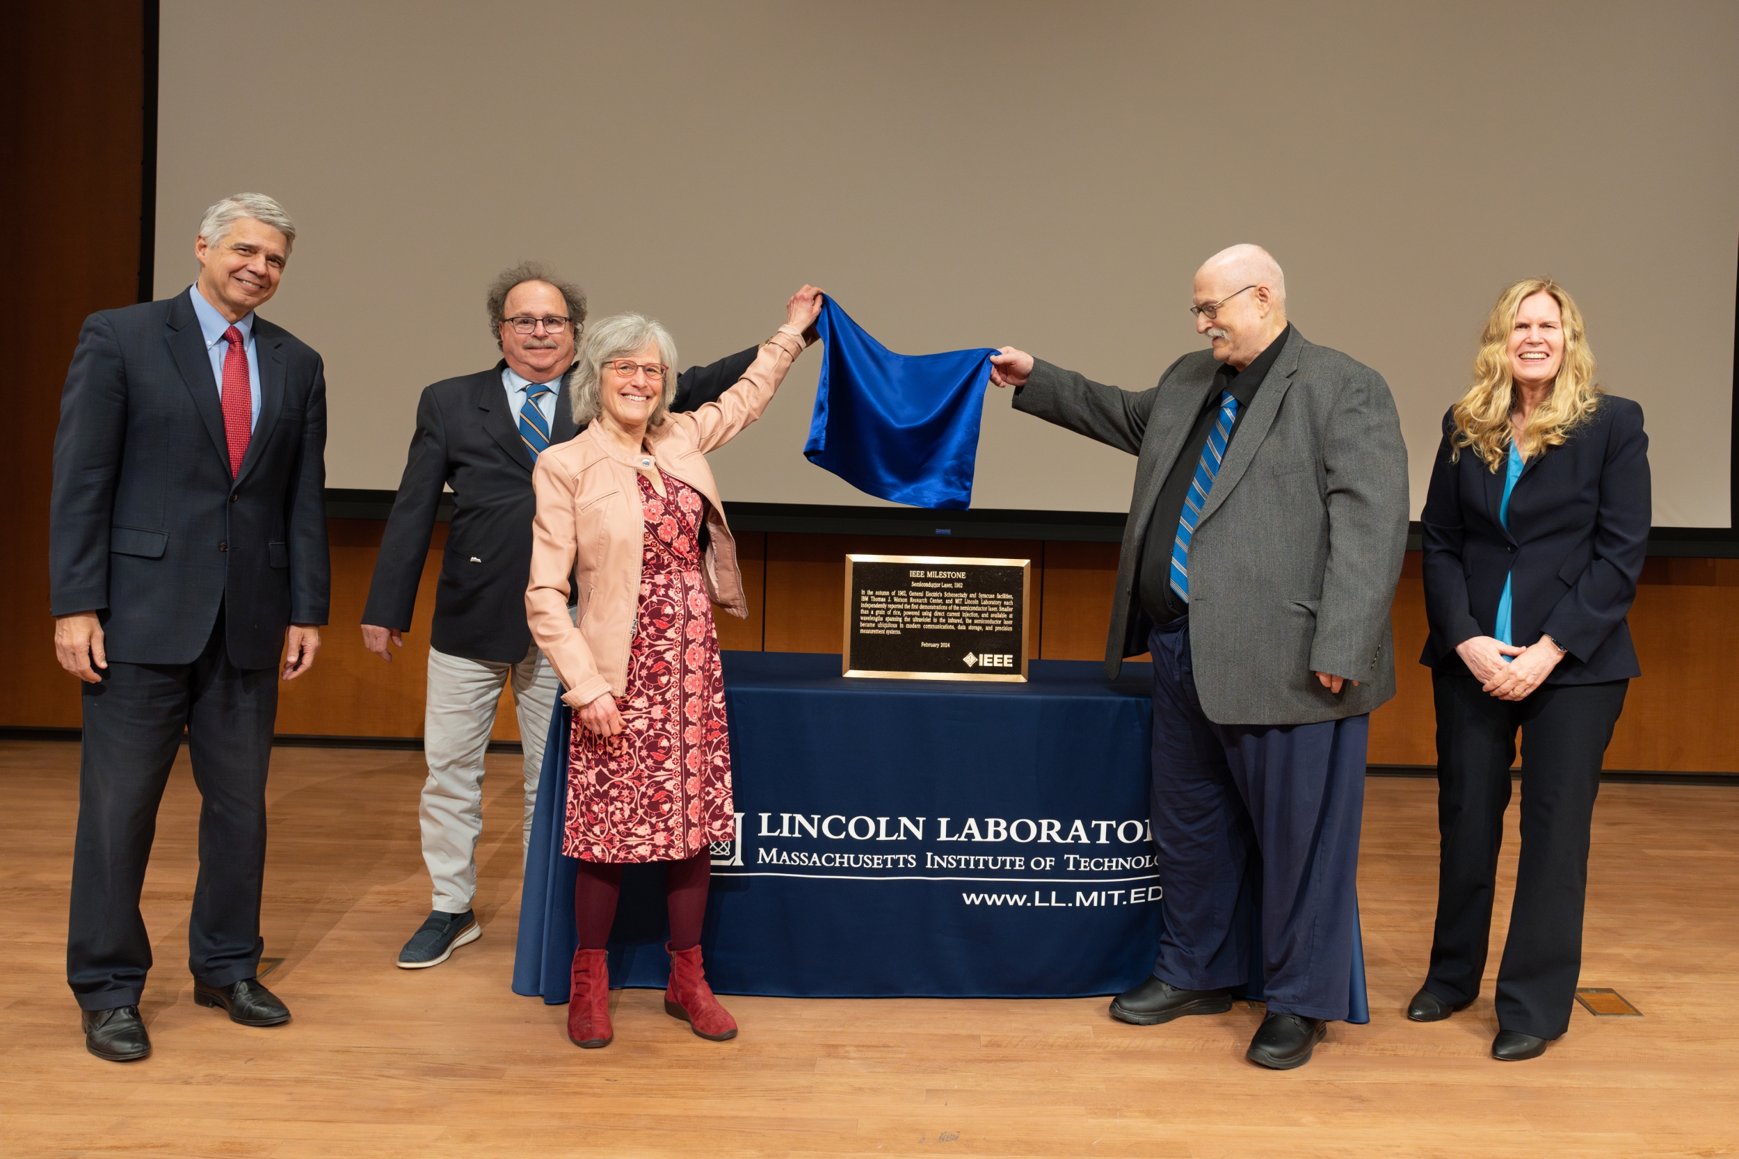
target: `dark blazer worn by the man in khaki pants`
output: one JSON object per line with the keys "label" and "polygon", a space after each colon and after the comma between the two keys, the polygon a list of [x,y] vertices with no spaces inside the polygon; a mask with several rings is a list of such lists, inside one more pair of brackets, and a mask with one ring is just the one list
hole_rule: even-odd
{"label": "dark blazer worn by the man in khaki pants", "polygon": [[[758,348],[690,367],[676,377],[673,410],[716,400],[755,361]],[[374,563],[363,624],[407,631],[435,532],[442,488],[452,488],[452,527],[435,589],[430,643],[468,660],[518,664],[532,646],[525,624],[525,584],[532,570],[532,457],[520,438],[501,386],[506,361],[480,374],[424,387],[417,429]],[[572,374],[572,372],[570,372]],[[550,443],[581,427],[567,400],[567,377],[555,394]]]}

